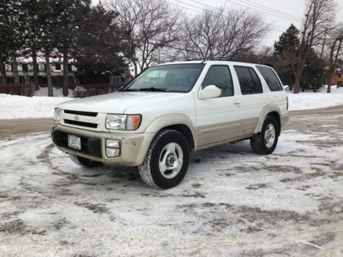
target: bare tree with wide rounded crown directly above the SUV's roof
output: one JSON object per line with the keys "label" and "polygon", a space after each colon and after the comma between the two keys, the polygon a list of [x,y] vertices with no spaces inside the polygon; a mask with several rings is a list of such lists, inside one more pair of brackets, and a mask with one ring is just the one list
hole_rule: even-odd
{"label": "bare tree with wide rounded crown directly above the SUV's roof", "polygon": [[257,46],[268,30],[261,15],[224,7],[185,17],[183,24],[182,55],[188,60],[233,59]]}

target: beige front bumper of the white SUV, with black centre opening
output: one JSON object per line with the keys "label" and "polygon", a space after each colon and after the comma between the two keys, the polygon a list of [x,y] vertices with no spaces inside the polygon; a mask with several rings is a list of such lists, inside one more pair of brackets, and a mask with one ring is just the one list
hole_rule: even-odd
{"label": "beige front bumper of the white SUV, with black centre opening", "polygon": [[[81,150],[68,147],[68,134],[80,136]],[[139,166],[142,164],[154,136],[154,133],[93,132],[60,124],[54,125],[51,130],[51,138],[61,151],[98,162],[123,166]],[[106,139],[120,141],[120,156],[115,158],[106,156]]]}

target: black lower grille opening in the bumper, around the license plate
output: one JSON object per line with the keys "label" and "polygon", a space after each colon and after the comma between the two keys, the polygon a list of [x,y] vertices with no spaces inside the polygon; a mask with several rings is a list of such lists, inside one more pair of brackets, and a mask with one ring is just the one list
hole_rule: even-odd
{"label": "black lower grille opening in the bumper, around the license plate", "polygon": [[[56,145],[60,147],[69,148],[68,133],[62,132],[60,130],[52,130],[51,136]],[[80,136],[80,135],[75,135],[75,136]],[[82,154],[88,154],[90,156],[102,158],[102,141],[100,138],[96,138],[96,137],[88,138],[85,136],[80,136],[80,138],[81,138],[81,150],[71,148],[73,149],[73,151],[79,151]]]}

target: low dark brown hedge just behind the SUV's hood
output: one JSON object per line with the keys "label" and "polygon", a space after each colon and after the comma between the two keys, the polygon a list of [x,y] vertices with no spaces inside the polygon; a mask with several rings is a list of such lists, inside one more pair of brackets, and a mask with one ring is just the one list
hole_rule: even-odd
{"label": "low dark brown hedge just behind the SUV's hood", "polygon": [[115,86],[110,84],[86,84],[75,86],[73,97],[83,98],[91,97],[93,95],[104,95],[108,93],[113,93],[119,90],[121,86]]}

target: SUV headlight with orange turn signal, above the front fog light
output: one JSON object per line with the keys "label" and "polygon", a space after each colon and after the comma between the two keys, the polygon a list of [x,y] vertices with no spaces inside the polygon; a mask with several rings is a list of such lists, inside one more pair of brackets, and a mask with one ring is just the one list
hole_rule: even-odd
{"label": "SUV headlight with orange turn signal, above the front fog light", "polygon": [[108,130],[137,130],[141,115],[107,114],[105,126]]}

